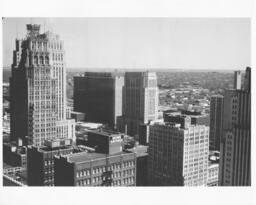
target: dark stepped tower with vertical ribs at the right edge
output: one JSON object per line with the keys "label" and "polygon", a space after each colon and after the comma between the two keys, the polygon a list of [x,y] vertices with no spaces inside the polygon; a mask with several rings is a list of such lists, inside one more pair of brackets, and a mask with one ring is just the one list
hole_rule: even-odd
{"label": "dark stepped tower with vertical ribs at the right edge", "polygon": [[219,185],[251,185],[251,68],[246,68],[242,89],[224,96]]}

